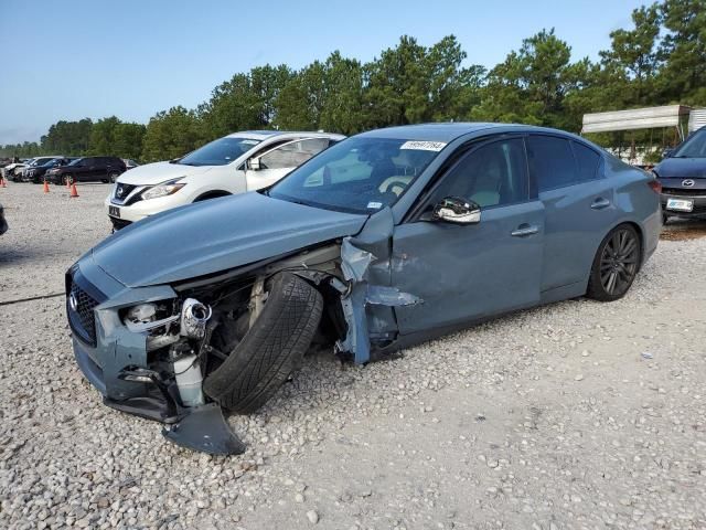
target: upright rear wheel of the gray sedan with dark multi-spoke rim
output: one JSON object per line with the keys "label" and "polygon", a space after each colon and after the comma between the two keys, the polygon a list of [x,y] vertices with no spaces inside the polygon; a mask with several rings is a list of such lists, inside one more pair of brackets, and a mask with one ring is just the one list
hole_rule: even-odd
{"label": "upright rear wheel of the gray sedan with dark multi-spoke rim", "polygon": [[598,246],[586,296],[613,301],[625,296],[640,271],[642,241],[630,224],[616,226]]}

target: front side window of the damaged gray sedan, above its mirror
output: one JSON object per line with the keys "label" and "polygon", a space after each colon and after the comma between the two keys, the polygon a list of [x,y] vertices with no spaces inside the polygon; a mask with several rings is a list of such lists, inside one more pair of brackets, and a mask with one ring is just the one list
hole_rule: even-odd
{"label": "front side window of the damaged gray sedan, above its mirror", "polygon": [[527,172],[521,139],[494,141],[466,155],[442,178],[429,206],[459,197],[481,208],[527,199]]}

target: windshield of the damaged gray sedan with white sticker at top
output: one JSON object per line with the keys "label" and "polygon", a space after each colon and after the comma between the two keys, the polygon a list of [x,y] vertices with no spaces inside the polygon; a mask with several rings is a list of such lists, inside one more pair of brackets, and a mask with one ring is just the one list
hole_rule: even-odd
{"label": "windshield of the damaged gray sedan with white sticker at top", "polygon": [[293,170],[268,194],[328,210],[374,213],[394,204],[445,145],[349,138]]}

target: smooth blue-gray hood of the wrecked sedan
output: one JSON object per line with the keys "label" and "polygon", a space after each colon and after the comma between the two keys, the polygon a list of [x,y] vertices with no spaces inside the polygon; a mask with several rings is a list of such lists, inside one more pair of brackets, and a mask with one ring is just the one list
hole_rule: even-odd
{"label": "smooth blue-gray hood of the wrecked sedan", "polygon": [[94,247],[90,258],[129,287],[169,284],[354,235],[366,220],[253,192],[147,218]]}

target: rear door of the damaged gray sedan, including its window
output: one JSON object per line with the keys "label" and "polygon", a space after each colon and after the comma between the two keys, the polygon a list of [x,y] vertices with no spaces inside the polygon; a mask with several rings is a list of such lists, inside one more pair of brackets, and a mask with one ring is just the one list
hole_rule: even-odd
{"label": "rear door of the damaged gray sedan, including its window", "polygon": [[560,136],[530,135],[526,142],[546,221],[542,290],[585,283],[598,245],[618,216],[602,157]]}

